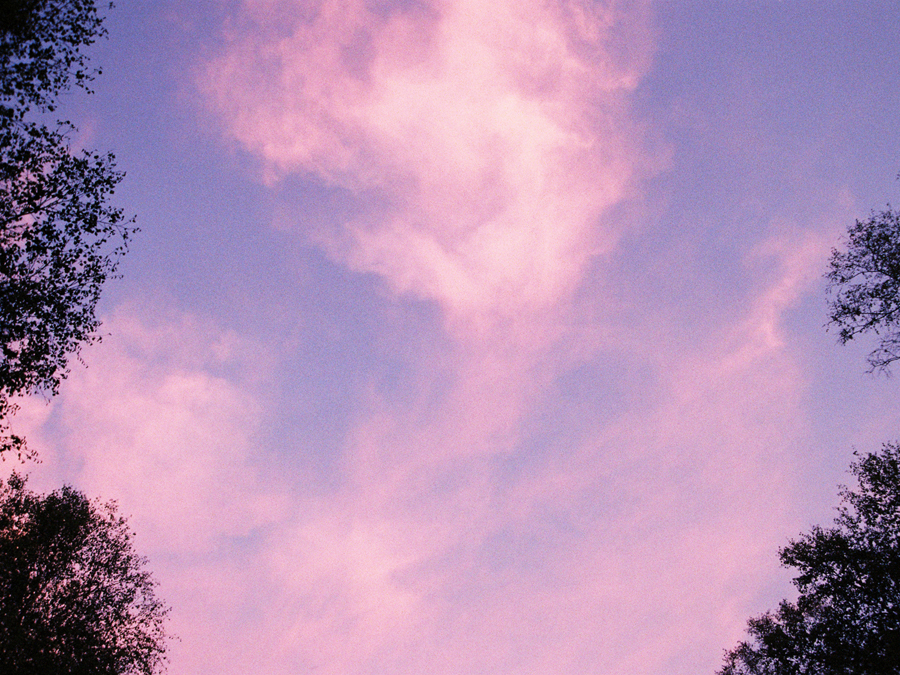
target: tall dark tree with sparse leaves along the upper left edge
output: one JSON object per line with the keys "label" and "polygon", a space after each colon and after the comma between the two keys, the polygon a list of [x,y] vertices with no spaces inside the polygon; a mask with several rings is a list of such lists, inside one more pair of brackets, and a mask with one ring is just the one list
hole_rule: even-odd
{"label": "tall dark tree with sparse leaves along the upper left edge", "polygon": [[87,90],[82,48],[105,35],[93,0],[0,0],[0,454],[13,399],[54,395],[68,361],[99,339],[95,308],[134,232],[109,198],[111,154],[75,152],[59,95]]}

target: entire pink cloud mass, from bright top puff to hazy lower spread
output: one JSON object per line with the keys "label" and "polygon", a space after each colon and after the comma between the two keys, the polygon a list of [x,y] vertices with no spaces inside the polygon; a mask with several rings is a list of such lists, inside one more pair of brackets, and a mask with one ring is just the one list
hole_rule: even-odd
{"label": "entire pink cloud mass, from bright top puff to hazy lower spread", "polygon": [[[573,291],[623,231],[604,214],[652,164],[628,111],[644,3],[242,9],[203,75],[229,133],[267,180],[378,202],[311,236],[440,303],[455,339],[413,357],[414,394],[362,398],[327,495],[257,445],[265,346],[191,317],[120,310],[90,368],[29,408],[158,554],[179,672],[715,665],[796,512],[782,452],[805,439],[807,383],[782,321],[820,242],[764,247],[769,276],[701,344],[667,339],[672,308],[579,326]],[[530,456],[560,374],[601,358],[622,373],[608,395],[640,404],[556,420],[574,440]]]}

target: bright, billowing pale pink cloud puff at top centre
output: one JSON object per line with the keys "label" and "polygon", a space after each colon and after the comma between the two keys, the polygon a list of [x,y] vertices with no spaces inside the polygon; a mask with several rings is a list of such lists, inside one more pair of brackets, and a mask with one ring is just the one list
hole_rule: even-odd
{"label": "bright, billowing pale pink cloud puff at top centre", "polygon": [[[647,170],[628,97],[641,3],[245,2],[204,89],[270,180],[313,174],[373,209],[313,236],[451,316],[541,310],[620,232]],[[299,225],[299,223],[298,223]]]}

